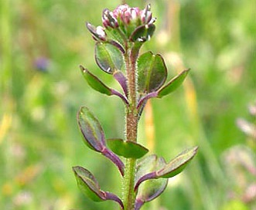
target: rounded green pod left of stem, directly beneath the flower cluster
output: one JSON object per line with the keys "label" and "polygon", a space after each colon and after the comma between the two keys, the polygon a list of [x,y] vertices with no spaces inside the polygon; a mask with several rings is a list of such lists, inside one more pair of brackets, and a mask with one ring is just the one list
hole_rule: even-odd
{"label": "rounded green pod left of stem, directly beneath the flower cluster", "polygon": [[95,60],[97,65],[106,73],[114,73],[124,66],[121,51],[108,42],[97,42],[95,45]]}

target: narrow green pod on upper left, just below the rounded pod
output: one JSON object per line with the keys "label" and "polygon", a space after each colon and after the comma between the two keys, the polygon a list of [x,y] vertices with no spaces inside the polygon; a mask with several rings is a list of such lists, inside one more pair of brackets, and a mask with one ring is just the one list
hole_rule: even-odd
{"label": "narrow green pod on upper left, just below the rounded pod", "polygon": [[111,89],[104,83],[102,83],[101,80],[97,78],[97,76],[94,76],[92,73],[88,71],[88,69],[85,69],[83,66],[80,66],[80,69],[84,76],[84,79],[87,80],[87,83],[90,85],[90,87],[108,96],[112,95]]}

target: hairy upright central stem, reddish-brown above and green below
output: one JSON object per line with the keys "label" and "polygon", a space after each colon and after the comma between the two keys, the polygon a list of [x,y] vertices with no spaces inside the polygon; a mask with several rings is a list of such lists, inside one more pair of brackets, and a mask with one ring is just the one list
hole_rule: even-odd
{"label": "hairy upright central stem, reddish-brown above and green below", "polygon": [[[125,63],[128,76],[128,100],[129,107],[126,110],[125,136],[126,141],[137,141],[138,113],[137,113],[137,79],[136,59],[139,47],[134,45],[130,50],[126,49]],[[135,158],[128,158],[125,163],[125,177],[123,179],[123,202],[125,210],[133,210],[135,207]]]}

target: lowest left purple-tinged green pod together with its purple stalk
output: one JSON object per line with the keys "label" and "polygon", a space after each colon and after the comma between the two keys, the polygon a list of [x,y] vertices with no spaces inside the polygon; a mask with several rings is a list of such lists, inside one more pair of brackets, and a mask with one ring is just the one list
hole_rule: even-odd
{"label": "lowest left purple-tinged green pod together with its purple stalk", "polygon": [[107,200],[117,202],[121,206],[121,209],[124,209],[123,202],[121,202],[121,199],[118,198],[117,195],[101,190],[96,178],[90,171],[80,166],[76,166],[73,167],[73,173],[77,179],[77,185],[84,195],[87,195],[87,197],[94,202],[104,202]]}

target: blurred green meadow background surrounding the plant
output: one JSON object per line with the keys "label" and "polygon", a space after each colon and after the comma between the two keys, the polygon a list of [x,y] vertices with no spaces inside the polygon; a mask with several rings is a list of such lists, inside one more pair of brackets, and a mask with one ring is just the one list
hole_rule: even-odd
{"label": "blurred green meadow background surrounding the plant", "polygon": [[[78,67],[116,85],[97,68],[84,22],[101,25],[102,10],[121,1],[0,2],[0,209],[118,209],[85,198],[71,167],[88,168],[104,190],[121,195],[118,170],[84,145],[76,121],[86,105],[108,138],[123,136],[121,101],[91,90]],[[255,209],[255,137],[236,124],[239,117],[256,122],[247,109],[256,102],[255,2],[127,3],[151,3],[157,17],[142,50],[161,53],[169,76],[192,69],[176,93],[152,100],[152,150],[169,161],[200,146],[186,171],[142,209]],[[145,145],[146,126],[142,116],[138,135]]]}

